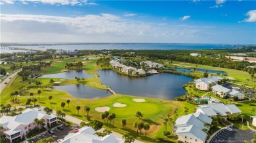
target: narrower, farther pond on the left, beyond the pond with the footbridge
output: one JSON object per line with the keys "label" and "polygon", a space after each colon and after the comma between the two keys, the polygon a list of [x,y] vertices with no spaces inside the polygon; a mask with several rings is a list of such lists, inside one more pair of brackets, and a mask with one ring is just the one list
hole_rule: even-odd
{"label": "narrower, farther pond on the left, beyond the pond with the footbridge", "polygon": [[68,80],[74,80],[75,76],[77,78],[91,78],[94,75],[87,74],[85,71],[66,71],[66,72],[60,72],[57,74],[45,74],[43,76],[40,76],[40,78],[64,78]]}

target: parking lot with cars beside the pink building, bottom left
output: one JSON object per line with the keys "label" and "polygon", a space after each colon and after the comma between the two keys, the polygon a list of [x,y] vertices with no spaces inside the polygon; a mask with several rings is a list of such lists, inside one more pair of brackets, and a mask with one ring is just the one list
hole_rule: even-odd
{"label": "parking lot with cars beside the pink building, bottom left", "polygon": [[66,127],[63,125],[63,130],[59,130],[57,129],[57,127],[53,128],[53,131],[55,132],[53,135],[49,134],[48,131],[41,134],[41,135],[37,135],[33,137],[33,142],[37,142],[38,140],[41,140],[43,138],[49,138],[49,137],[53,137],[55,141],[57,141],[58,139],[63,139],[65,136],[67,136],[69,133],[74,133],[74,130],[76,127],[79,127],[78,125],[73,125],[71,127]]}

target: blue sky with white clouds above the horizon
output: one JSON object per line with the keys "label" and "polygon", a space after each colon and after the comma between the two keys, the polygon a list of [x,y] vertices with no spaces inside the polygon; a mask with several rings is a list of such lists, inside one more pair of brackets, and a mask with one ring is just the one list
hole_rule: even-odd
{"label": "blue sky with white clouds above the horizon", "polygon": [[256,1],[0,0],[1,42],[256,44]]}

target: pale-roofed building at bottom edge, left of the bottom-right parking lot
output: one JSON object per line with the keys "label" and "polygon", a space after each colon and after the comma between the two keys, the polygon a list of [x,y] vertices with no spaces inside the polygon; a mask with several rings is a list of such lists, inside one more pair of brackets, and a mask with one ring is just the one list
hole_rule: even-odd
{"label": "pale-roofed building at bottom edge, left of the bottom-right parking lot", "polygon": [[213,119],[200,112],[181,116],[175,121],[173,133],[178,135],[178,140],[182,142],[204,143],[207,134],[203,129],[209,129],[206,124],[211,124],[211,121]]}

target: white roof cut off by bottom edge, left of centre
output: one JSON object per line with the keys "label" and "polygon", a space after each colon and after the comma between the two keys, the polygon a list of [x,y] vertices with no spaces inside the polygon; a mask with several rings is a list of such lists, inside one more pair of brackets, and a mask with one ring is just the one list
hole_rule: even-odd
{"label": "white roof cut off by bottom edge, left of centre", "polygon": [[116,138],[113,135],[98,136],[96,131],[92,127],[82,127],[77,133],[69,133],[61,143],[71,143],[71,142],[87,142],[87,143],[123,143],[124,140]]}

